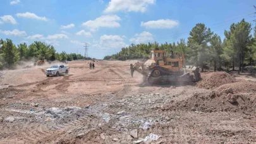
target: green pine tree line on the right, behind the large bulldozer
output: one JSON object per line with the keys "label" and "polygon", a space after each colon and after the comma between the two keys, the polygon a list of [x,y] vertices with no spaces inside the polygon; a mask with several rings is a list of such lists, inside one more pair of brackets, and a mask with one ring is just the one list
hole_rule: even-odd
{"label": "green pine tree line on the right, behind the large bulldozer", "polygon": [[225,38],[221,37],[207,28],[204,23],[197,23],[190,31],[187,42],[181,39],[173,44],[157,42],[148,44],[131,44],[123,47],[120,52],[104,59],[138,59],[149,58],[151,49],[166,50],[168,54],[173,52],[183,52],[186,64],[200,66],[204,71],[205,65],[212,66],[214,71],[221,70],[221,66],[234,70],[238,66],[239,72],[243,71],[245,65],[255,65],[256,62],[256,26],[244,19],[238,23],[233,23],[229,30],[224,30]]}

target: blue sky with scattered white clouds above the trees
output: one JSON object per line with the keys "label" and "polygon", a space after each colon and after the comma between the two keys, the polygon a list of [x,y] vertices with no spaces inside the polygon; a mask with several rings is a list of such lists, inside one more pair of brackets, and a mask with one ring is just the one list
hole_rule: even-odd
{"label": "blue sky with scattered white clouds above the trees", "polygon": [[[205,23],[221,38],[231,23],[252,22],[254,0],[1,0],[0,38],[15,44],[35,40],[56,51],[101,59],[131,43],[187,39],[196,23]],[[253,27],[255,23],[252,22]]]}

